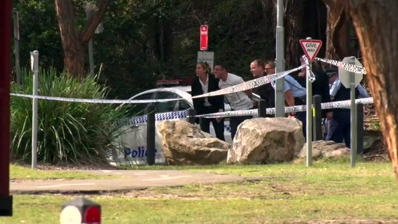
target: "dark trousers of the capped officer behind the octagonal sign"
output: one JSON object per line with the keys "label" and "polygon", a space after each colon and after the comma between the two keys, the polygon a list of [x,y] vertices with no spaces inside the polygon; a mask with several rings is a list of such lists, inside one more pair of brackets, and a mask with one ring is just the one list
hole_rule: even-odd
{"label": "dark trousers of the capped officer behind the octagonal sign", "polygon": [[337,143],[345,142],[347,148],[351,147],[351,120],[350,111],[335,111],[333,113],[333,120],[330,121],[329,133],[326,140],[332,140]]}

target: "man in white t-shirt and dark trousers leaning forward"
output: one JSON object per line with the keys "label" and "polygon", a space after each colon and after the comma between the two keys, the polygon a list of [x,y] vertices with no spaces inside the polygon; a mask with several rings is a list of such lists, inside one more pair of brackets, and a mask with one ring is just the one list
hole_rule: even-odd
{"label": "man in white t-shirt and dark trousers leaning forward", "polygon": [[[228,73],[227,67],[224,64],[217,63],[214,66],[214,75],[217,79],[220,79],[220,89],[235,86],[240,83],[244,83],[242,77]],[[234,92],[224,95],[228,103],[231,105],[231,110],[250,110],[253,108],[252,102],[252,90],[248,89],[245,91]],[[231,126],[231,138],[234,139],[236,130],[240,123],[244,120],[253,118],[252,116],[236,116],[231,117],[229,120]]]}

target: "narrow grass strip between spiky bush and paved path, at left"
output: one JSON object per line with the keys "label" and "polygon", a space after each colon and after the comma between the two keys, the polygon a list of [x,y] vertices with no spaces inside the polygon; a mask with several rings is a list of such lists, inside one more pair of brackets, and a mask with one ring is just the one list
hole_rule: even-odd
{"label": "narrow grass strip between spiky bush and paved path, at left", "polygon": [[[38,179],[103,179],[111,178],[111,175],[94,175],[76,171],[44,171],[28,167],[10,165],[10,178],[18,180],[38,180]],[[1,222],[0,222],[1,223]]]}

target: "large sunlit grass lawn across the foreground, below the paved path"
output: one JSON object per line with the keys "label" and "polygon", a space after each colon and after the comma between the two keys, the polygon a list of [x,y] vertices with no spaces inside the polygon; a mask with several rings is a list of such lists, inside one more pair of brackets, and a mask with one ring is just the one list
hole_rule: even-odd
{"label": "large sunlit grass lawn across the foreground, below the paved path", "polygon": [[[142,169],[186,169],[263,179],[87,196],[103,206],[102,223],[398,221],[398,185],[391,163],[358,162],[353,169],[348,161],[324,161],[312,168],[276,164]],[[0,218],[0,223],[59,223],[60,204],[75,196],[15,195],[14,216]]]}

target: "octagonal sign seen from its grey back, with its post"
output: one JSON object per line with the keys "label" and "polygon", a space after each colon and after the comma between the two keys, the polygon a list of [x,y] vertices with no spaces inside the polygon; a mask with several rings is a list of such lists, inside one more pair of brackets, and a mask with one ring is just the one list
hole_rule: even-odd
{"label": "octagonal sign seen from its grey back, with its post", "polygon": [[[355,57],[345,57],[343,59],[344,63],[349,63],[352,65],[362,64]],[[343,84],[346,88],[350,88],[350,100],[351,100],[351,167],[355,167],[355,157],[357,155],[357,114],[355,114],[356,105],[355,105],[355,88],[363,79],[363,74],[349,72],[344,69],[339,68],[339,80],[341,84]]]}

